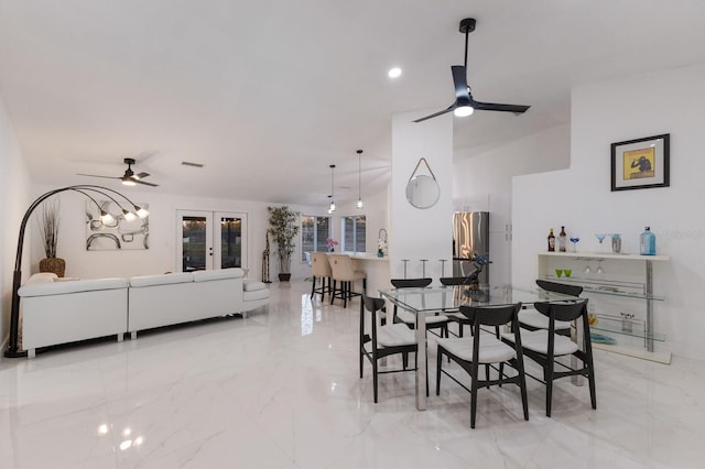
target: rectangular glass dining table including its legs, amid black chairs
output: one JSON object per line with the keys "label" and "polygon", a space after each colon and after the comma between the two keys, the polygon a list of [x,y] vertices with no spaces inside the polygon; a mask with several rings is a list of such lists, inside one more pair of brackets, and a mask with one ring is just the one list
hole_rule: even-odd
{"label": "rectangular glass dining table including its legs, amid black chairs", "polygon": [[[522,288],[511,285],[492,287],[435,286],[425,288],[389,288],[379,291],[382,298],[414,314],[419,351],[426,349],[426,316],[436,313],[456,313],[460,306],[501,306],[514,303],[533,305],[534,302],[574,301],[574,296],[546,292],[540,288]],[[388,308],[388,310],[391,310]],[[426,367],[416,367],[416,410],[426,410]]]}

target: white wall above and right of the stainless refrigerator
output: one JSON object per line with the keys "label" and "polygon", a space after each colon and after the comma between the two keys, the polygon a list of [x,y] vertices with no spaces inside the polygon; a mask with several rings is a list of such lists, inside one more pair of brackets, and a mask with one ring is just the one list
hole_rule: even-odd
{"label": "white wall above and right of the stainless refrigerator", "polygon": [[[521,119],[521,117],[510,117]],[[485,153],[456,150],[453,172],[455,211],[489,211],[489,280],[511,281],[512,177],[568,167],[570,124],[556,126]]]}

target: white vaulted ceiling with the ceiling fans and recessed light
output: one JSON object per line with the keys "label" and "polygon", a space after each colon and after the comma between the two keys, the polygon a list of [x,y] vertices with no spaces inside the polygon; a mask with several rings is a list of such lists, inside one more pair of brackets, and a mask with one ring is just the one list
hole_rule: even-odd
{"label": "white vaulted ceiling with the ceiling fans and recessed light", "polygon": [[117,187],[76,173],[135,157],[143,190],[323,206],[329,164],[356,199],[365,150],[377,190],[392,114],[453,102],[468,17],[475,98],[532,108],[455,118],[466,155],[568,122],[572,87],[705,58],[701,0],[1,0],[0,97],[37,183]]}

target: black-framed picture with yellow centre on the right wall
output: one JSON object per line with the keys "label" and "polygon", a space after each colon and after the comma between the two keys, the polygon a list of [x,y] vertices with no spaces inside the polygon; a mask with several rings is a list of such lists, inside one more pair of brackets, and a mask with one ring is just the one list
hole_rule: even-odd
{"label": "black-framed picture with yellow centre on the right wall", "polygon": [[611,189],[670,186],[671,134],[644,137],[611,144]]}

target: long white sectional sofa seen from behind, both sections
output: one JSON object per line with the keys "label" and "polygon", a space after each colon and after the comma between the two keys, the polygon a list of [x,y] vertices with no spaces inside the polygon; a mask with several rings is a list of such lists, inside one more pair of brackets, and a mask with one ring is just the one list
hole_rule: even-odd
{"label": "long white sectional sofa seen from behind, both sections", "polygon": [[240,313],[269,302],[262,282],[242,269],[124,279],[61,281],[34,274],[19,290],[22,348],[35,349]]}

